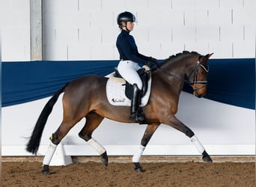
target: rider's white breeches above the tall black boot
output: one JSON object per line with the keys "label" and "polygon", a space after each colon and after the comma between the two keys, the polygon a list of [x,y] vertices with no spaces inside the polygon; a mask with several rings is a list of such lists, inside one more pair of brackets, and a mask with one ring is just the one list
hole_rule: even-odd
{"label": "rider's white breeches above the tall black boot", "polygon": [[133,61],[120,61],[118,64],[118,72],[129,84],[137,84],[138,89],[142,89],[141,78],[138,76],[137,70],[141,67]]}

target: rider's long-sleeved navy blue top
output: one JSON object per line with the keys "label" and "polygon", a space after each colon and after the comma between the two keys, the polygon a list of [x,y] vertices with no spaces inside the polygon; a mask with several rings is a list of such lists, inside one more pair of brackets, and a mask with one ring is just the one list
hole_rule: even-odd
{"label": "rider's long-sleeved navy blue top", "polygon": [[121,30],[121,33],[118,35],[116,46],[120,54],[120,60],[130,60],[139,64],[147,64],[147,62],[150,61],[150,57],[138,53],[135,40],[132,35],[129,35],[129,31],[124,29]]}

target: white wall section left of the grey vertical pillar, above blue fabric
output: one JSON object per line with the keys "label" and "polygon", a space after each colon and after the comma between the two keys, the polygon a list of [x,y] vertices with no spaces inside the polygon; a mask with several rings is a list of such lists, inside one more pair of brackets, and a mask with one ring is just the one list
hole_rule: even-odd
{"label": "white wall section left of the grey vertical pillar, above blue fabric", "polygon": [[1,3],[1,61],[30,61],[29,0]]}

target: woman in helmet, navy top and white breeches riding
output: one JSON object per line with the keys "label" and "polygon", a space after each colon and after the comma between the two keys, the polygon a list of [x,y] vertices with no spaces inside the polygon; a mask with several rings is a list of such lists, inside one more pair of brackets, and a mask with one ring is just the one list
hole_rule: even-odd
{"label": "woman in helmet, navy top and white breeches riding", "polygon": [[132,35],[129,32],[133,30],[135,16],[130,12],[123,12],[118,15],[118,25],[121,33],[118,35],[116,46],[120,55],[120,62],[118,64],[118,72],[121,76],[132,85],[131,98],[131,115],[130,120],[144,123],[144,113],[139,107],[141,102],[142,82],[138,76],[137,70],[141,67],[138,64],[146,64],[153,67],[157,64],[156,58],[147,57],[138,53],[138,49]]}

